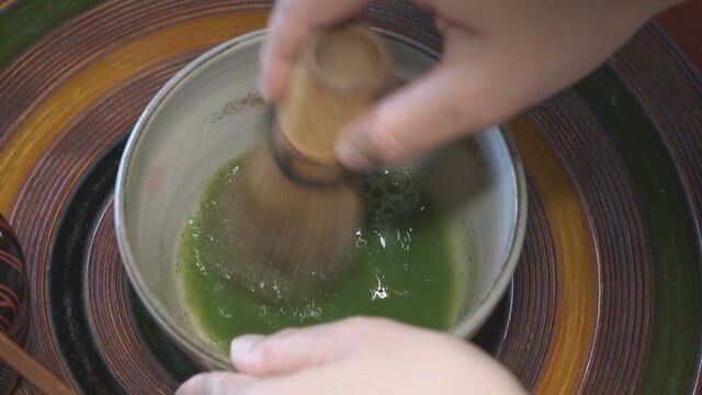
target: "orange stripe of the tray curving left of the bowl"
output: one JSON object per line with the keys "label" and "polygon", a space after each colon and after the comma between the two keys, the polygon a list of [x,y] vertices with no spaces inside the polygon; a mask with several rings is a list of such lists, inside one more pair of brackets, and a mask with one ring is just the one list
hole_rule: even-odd
{"label": "orange stripe of the tray curving left of the bowl", "polygon": [[188,50],[261,29],[268,12],[249,11],[183,22],[107,52],[36,103],[0,155],[0,212],[8,212],[34,162],[53,137],[120,81]]}

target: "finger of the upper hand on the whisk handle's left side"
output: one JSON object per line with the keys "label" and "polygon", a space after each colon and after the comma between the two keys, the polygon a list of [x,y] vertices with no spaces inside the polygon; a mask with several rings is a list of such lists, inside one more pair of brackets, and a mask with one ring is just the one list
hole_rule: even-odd
{"label": "finger of the upper hand on the whisk handle's left side", "polygon": [[261,49],[260,90],[269,102],[281,99],[304,38],[315,29],[362,15],[370,0],[279,0]]}

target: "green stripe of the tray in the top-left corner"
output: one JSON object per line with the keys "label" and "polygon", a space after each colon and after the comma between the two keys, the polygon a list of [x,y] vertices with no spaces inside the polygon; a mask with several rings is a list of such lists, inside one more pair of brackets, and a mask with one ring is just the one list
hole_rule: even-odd
{"label": "green stripe of the tray in the top-left corner", "polygon": [[25,48],[73,15],[100,0],[24,0],[0,13],[0,68]]}

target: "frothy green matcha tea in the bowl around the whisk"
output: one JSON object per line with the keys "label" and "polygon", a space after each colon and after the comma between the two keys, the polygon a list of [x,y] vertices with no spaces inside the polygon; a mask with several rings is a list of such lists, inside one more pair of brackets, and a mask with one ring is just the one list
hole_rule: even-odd
{"label": "frothy green matcha tea in the bowl around the whisk", "polygon": [[[219,192],[237,181],[241,159],[223,166],[189,217],[178,251],[185,303],[201,332],[227,352],[241,334],[270,334],[291,326],[352,315],[385,316],[448,330],[465,305],[465,242],[450,214],[432,206],[406,168],[386,169],[363,181],[364,227],[358,229],[347,272],[313,294],[285,304],[265,303],[213,268],[212,227]],[[463,249],[463,250],[462,250]],[[235,257],[236,258],[236,257]],[[231,258],[229,258],[231,259]]]}

